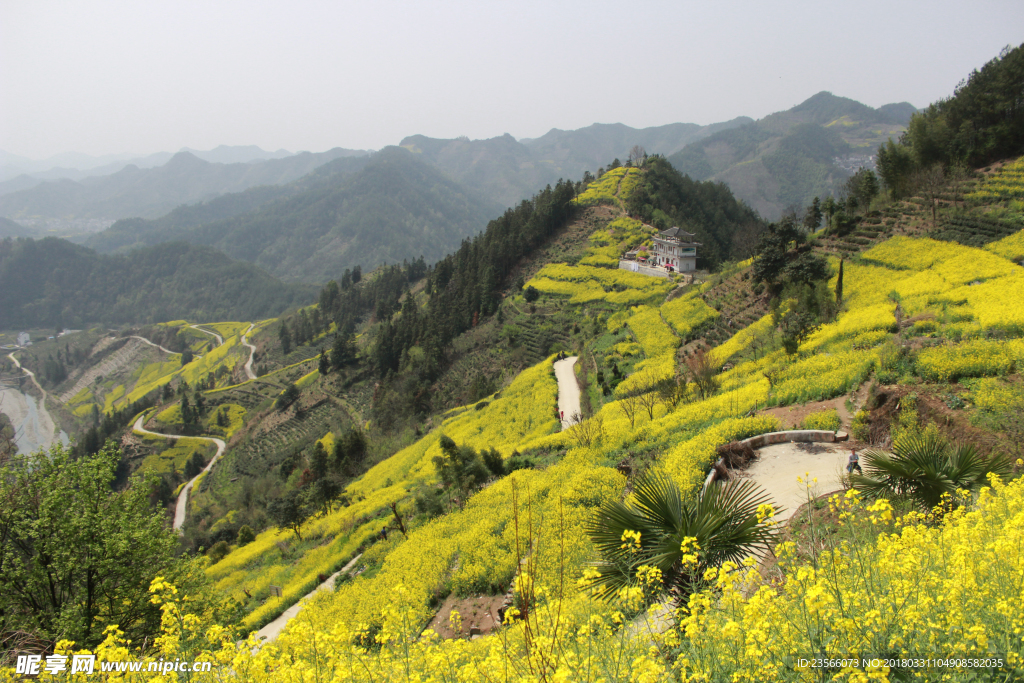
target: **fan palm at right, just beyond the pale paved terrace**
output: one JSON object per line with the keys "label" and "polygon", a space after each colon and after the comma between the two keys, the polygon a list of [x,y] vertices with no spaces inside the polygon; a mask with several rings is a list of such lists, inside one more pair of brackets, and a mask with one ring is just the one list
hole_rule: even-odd
{"label": "fan palm at right, just beyond the pale paved terrace", "polygon": [[936,429],[896,439],[893,452],[865,450],[860,454],[862,474],[851,474],[850,484],[871,498],[902,498],[931,510],[945,495],[975,490],[990,473],[1010,473],[1004,456],[985,457],[969,443],[950,443]]}

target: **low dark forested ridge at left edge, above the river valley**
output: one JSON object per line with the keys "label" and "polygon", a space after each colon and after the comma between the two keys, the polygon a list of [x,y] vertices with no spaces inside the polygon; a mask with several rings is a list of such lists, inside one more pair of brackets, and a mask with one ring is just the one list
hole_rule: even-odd
{"label": "low dark forested ridge at left edge, above the river valley", "polygon": [[56,238],[0,241],[0,329],[256,318],[312,294],[208,247],[106,256]]}

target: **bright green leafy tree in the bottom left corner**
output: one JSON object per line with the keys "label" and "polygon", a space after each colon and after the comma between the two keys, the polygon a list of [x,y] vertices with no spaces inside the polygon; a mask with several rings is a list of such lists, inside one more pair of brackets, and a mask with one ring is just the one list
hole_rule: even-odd
{"label": "bright green leafy tree in the bottom left corner", "polygon": [[55,445],[24,456],[0,476],[0,626],[42,641],[94,646],[117,624],[141,641],[159,630],[150,602],[158,575],[198,590],[177,535],[150,507],[151,484],[112,490],[120,452],[81,459]]}

